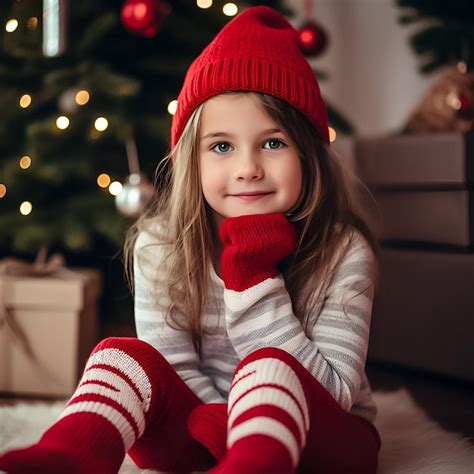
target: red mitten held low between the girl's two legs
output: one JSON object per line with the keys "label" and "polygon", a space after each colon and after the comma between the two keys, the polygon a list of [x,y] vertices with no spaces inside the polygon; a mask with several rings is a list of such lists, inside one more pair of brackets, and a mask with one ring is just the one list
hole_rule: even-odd
{"label": "red mitten held low between the girl's two legs", "polygon": [[189,415],[188,430],[220,461],[227,449],[227,403],[198,405]]}

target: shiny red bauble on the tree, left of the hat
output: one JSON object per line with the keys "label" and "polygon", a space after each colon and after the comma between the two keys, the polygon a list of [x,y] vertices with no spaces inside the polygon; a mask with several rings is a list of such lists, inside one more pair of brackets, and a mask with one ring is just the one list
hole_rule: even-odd
{"label": "shiny red bauble on the tree, left of the hat", "polygon": [[121,18],[128,31],[151,38],[161,29],[168,13],[168,5],[160,0],[127,0]]}

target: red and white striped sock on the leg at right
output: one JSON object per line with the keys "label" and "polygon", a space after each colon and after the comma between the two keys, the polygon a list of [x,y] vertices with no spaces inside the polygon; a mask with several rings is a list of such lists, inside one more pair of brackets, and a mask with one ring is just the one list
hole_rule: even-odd
{"label": "red and white striped sock on the leg at right", "polygon": [[228,451],[211,473],[295,471],[310,420],[305,379],[295,362],[280,349],[265,348],[239,364],[229,392]]}

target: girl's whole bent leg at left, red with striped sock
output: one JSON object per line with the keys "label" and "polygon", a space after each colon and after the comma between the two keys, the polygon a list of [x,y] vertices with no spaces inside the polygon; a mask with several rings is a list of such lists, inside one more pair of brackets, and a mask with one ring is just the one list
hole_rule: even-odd
{"label": "girl's whole bent leg at left, red with striped sock", "polygon": [[116,473],[127,451],[141,468],[207,468],[214,458],[186,427],[201,403],[148,343],[104,339],[56,423],[36,445],[0,456],[0,471]]}

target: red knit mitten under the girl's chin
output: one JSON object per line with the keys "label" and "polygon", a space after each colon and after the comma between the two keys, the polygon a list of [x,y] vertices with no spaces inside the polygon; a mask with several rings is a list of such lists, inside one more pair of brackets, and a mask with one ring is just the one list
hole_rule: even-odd
{"label": "red knit mitten under the girl's chin", "polygon": [[297,229],[281,213],[224,219],[221,273],[225,287],[243,291],[277,274],[277,265],[296,249]]}

